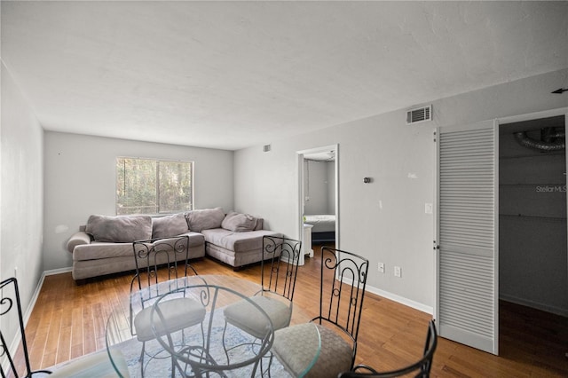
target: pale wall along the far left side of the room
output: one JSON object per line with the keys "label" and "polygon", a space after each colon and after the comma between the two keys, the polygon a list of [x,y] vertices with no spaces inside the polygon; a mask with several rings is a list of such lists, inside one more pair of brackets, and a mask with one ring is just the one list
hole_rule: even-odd
{"label": "pale wall along the far left side of the room", "polygon": [[26,311],[43,273],[43,129],[4,63],[1,69],[0,280],[18,268]]}

